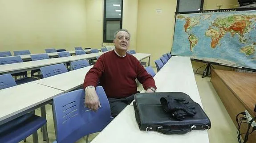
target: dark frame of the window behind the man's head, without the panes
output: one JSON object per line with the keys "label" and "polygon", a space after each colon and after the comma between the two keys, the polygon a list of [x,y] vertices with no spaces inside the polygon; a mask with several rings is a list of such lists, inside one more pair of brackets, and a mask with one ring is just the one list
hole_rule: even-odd
{"label": "dark frame of the window behind the man's head, without the panes", "polygon": [[103,14],[103,43],[113,43],[113,40],[106,39],[106,27],[107,21],[119,21],[120,22],[120,29],[122,29],[122,19],[123,19],[123,0],[121,0],[121,18],[106,18],[106,0],[104,0],[104,14]]}

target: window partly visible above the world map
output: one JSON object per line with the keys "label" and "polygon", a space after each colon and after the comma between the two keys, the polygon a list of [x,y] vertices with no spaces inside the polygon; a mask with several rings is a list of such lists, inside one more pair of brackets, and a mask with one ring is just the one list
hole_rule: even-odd
{"label": "window partly visible above the world map", "polygon": [[204,0],[177,0],[176,12],[202,11]]}

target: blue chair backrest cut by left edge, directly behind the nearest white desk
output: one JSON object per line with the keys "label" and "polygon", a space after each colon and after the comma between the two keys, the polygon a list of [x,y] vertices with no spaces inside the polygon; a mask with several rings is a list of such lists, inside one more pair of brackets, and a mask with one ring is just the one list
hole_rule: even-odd
{"label": "blue chair backrest cut by left edge, directly behind the nearest white desk", "polygon": [[8,87],[15,86],[16,82],[12,78],[11,74],[0,75],[0,89],[6,89]]}

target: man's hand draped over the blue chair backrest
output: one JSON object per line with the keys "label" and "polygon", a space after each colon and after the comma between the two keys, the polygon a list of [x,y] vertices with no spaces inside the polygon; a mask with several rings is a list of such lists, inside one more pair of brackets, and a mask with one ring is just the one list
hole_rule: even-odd
{"label": "man's hand draped over the blue chair backrest", "polygon": [[101,107],[99,97],[94,88],[85,90],[85,107],[95,112],[98,110],[98,107]]}

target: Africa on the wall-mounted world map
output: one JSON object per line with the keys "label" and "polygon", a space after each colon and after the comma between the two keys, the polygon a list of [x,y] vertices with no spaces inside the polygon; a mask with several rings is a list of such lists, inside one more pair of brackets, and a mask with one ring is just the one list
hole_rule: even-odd
{"label": "Africa on the wall-mounted world map", "polygon": [[211,37],[211,48],[215,48],[219,44],[219,39],[223,36],[220,31],[212,28],[208,29],[205,35]]}

